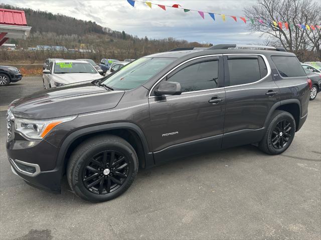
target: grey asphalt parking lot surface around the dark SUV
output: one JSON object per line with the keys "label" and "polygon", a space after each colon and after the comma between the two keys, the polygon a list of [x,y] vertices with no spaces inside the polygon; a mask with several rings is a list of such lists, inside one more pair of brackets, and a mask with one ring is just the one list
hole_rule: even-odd
{"label": "grey asphalt parking lot surface around the dark SUV", "polygon": [[[247,145],[138,172],[120,197],[89,203],[27,185],[7,159],[7,105],[41,77],[0,87],[1,239],[320,239],[321,94],[287,151]],[[45,159],[44,159],[45,160]]]}

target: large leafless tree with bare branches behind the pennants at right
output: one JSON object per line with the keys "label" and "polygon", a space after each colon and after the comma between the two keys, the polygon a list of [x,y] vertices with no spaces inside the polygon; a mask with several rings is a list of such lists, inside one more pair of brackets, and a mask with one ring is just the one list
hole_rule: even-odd
{"label": "large leafless tree with bare branches behind the pennants at right", "polygon": [[[315,50],[320,55],[321,3],[312,0],[257,0],[244,9],[253,19],[251,31],[270,36],[271,42],[294,52],[302,58],[305,51]],[[276,24],[275,24],[276,23]],[[298,25],[298,24],[302,24]],[[308,27],[306,25],[308,24]],[[311,25],[312,28],[310,27]],[[309,29],[310,28],[310,29]],[[314,28],[314,29],[313,29]]]}

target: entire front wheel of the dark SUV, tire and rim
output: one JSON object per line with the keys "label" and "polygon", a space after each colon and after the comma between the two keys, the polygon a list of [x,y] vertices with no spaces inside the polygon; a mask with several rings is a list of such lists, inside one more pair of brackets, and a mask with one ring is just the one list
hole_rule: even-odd
{"label": "entire front wheel of the dark SUV, tire and rim", "polygon": [[89,138],[72,153],[67,166],[70,188],[84,200],[111,200],[128,189],[138,171],[134,148],[123,138]]}

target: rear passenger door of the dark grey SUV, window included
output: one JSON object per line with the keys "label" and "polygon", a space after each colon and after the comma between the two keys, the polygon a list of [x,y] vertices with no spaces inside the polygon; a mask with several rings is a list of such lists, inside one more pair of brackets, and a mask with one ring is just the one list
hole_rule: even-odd
{"label": "rear passenger door of the dark grey SUV, window included", "polygon": [[260,54],[224,54],[224,73],[223,147],[257,142],[271,106],[279,101],[269,63]]}

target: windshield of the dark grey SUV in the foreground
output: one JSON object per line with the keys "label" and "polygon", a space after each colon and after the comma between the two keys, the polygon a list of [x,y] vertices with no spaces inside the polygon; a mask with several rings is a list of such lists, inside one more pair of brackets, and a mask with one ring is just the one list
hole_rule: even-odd
{"label": "windshield of the dark grey SUV in the foreground", "polygon": [[161,71],[176,58],[142,57],[128,63],[102,83],[115,90],[128,90],[142,85],[150,77]]}

